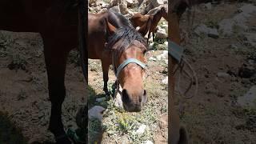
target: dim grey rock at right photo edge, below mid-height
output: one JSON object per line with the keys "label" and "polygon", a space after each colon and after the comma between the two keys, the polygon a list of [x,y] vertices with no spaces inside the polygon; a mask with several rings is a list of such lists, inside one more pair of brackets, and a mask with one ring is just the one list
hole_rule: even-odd
{"label": "dim grey rock at right photo edge, below mid-height", "polygon": [[243,95],[238,97],[238,104],[240,106],[256,106],[256,85],[252,86],[250,90]]}

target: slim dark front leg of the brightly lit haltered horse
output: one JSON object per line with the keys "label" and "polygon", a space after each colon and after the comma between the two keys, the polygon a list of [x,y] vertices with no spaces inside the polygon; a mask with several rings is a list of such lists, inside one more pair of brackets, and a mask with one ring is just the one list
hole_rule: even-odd
{"label": "slim dark front leg of the brightly lit haltered horse", "polygon": [[109,69],[110,69],[110,62],[102,60],[102,72],[103,72],[103,90],[105,91],[106,95],[110,95],[110,92],[107,88],[107,82],[109,81]]}

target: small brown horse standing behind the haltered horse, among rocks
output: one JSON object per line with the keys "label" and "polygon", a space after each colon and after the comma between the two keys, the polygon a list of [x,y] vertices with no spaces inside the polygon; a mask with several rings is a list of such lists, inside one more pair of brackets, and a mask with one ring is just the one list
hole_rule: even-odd
{"label": "small brown horse standing behind the haltered horse, among rocks", "polygon": [[148,39],[150,38],[150,34],[153,34],[153,41],[154,41],[154,34],[156,33],[158,22],[161,18],[167,19],[167,12],[166,8],[164,6],[156,7],[154,10],[150,10],[148,14],[142,15],[142,14],[134,14],[130,18],[130,22],[134,27],[141,27],[140,30],[138,30],[142,36],[145,36],[147,32]]}

